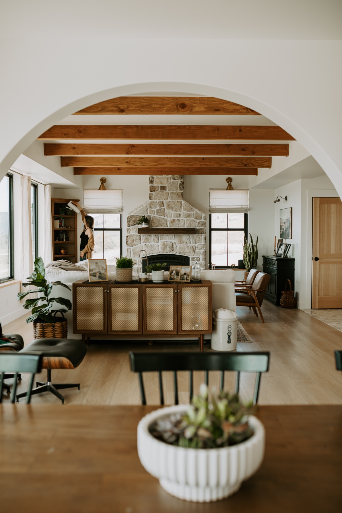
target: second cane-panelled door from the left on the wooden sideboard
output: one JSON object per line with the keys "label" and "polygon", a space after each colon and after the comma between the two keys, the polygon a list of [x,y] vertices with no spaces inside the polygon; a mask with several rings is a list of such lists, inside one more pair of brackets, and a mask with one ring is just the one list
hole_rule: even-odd
{"label": "second cane-panelled door from the left on the wooden sideboard", "polygon": [[108,334],[143,333],[142,286],[108,284]]}

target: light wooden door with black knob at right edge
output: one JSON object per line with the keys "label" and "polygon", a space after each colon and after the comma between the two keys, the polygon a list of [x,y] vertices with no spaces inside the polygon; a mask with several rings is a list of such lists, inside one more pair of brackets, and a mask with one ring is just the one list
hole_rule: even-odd
{"label": "light wooden door with black knob at right edge", "polygon": [[342,202],[313,198],[312,308],[342,308]]}

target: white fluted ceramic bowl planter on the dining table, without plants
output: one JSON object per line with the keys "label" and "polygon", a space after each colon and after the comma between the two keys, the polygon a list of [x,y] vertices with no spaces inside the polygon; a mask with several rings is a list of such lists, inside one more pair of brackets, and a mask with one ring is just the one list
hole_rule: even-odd
{"label": "white fluted ceramic bowl planter on the dining table, without plants", "polygon": [[138,424],[140,462],[169,494],[193,502],[213,502],[236,492],[264,459],[265,429],[251,416],[254,435],[245,442],[220,449],[187,449],[154,438],[148,427],[158,417],[185,412],[187,405],[152,411]]}

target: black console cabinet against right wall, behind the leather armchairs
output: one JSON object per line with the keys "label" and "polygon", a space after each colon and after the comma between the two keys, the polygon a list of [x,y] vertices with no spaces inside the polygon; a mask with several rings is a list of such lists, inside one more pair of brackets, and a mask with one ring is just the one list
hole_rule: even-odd
{"label": "black console cabinet against right wall, behind the leather armchairs", "polygon": [[292,290],[294,290],[294,258],[263,255],[263,259],[263,271],[271,276],[265,298],[274,305],[279,306],[281,291],[285,290],[287,280],[290,280]]}

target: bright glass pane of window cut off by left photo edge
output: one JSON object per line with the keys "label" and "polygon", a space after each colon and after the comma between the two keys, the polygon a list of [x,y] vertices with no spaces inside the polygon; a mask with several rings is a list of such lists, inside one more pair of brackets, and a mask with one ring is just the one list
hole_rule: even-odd
{"label": "bright glass pane of window cut off by left photo edge", "polygon": [[0,182],[0,280],[10,275],[9,259],[9,177]]}

